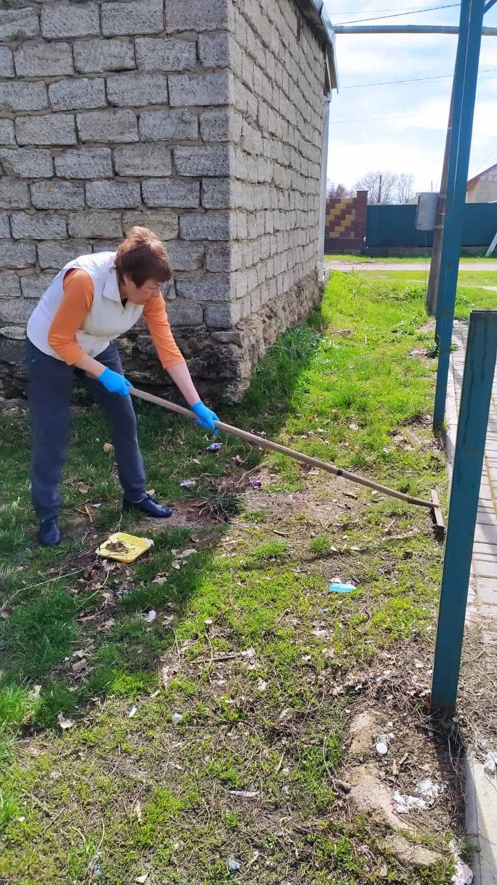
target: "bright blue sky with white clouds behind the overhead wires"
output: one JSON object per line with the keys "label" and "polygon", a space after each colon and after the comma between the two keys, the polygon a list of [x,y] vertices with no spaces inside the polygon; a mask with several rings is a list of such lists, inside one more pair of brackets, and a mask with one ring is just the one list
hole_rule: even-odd
{"label": "bright blue sky with white clouds behind the overhead wires", "polygon": [[[332,23],[339,25],[452,3],[327,0],[326,5]],[[368,23],[457,25],[459,14],[454,5]],[[497,26],[497,4],[485,23]],[[456,40],[451,35],[337,35],[340,91],[332,99],[328,180],[352,187],[363,173],[382,169],[413,173],[416,190],[439,188]],[[497,163],[497,36],[483,38],[479,67],[470,176]],[[445,74],[450,75],[445,80],[348,89]],[[346,122],[351,120],[356,122]]]}

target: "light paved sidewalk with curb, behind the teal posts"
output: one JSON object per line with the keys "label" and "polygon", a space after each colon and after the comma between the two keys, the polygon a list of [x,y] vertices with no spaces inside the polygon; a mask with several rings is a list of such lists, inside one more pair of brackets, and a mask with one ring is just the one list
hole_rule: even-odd
{"label": "light paved sidewalk with curb, behind the teal posts", "polygon": [[[467,325],[455,322],[453,338],[459,350],[451,355],[447,388],[450,473],[454,463],[467,335]],[[490,658],[497,650],[497,373],[486,435],[467,619],[478,619],[484,624],[483,637]],[[497,885],[497,778],[486,774],[484,766],[470,756],[466,760],[466,826],[476,849],[474,885]]]}

